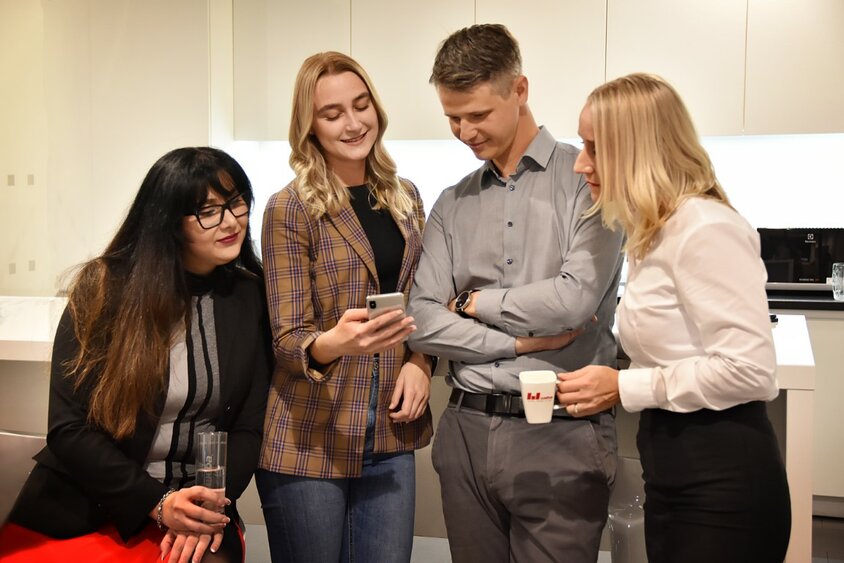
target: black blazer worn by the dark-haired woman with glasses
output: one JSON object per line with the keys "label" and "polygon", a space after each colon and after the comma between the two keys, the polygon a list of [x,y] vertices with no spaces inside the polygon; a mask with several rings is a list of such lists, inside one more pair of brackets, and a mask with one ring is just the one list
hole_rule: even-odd
{"label": "black blazer worn by the dark-haired woman with glasses", "polygon": [[[222,277],[213,290],[222,405],[215,426],[229,433],[226,496],[233,504],[227,512],[236,517],[234,501],[258,463],[272,351],[263,283],[239,271]],[[93,428],[86,420],[92,386],[74,391],[64,377],[64,362],[78,346],[65,310],[53,343],[47,447],[35,456],[10,520],[55,538],[110,522],[126,541],[147,524],[167,490],[143,470],[165,396],[154,419],[139,414],[130,438],[117,441]]]}

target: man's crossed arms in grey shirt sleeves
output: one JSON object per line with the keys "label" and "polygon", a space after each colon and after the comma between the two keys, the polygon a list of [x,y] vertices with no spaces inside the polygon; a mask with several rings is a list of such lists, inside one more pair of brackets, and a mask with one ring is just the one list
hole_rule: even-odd
{"label": "man's crossed arms in grey shirt sleeves", "polygon": [[615,277],[622,240],[602,227],[600,217],[577,221],[558,275],[519,287],[481,289],[465,310],[474,318],[466,318],[454,312],[456,295],[470,288],[455,287],[442,207],[441,198],[428,218],[410,294],[410,314],[419,329],[410,336],[411,348],[484,363],[561,348],[592,320]]}

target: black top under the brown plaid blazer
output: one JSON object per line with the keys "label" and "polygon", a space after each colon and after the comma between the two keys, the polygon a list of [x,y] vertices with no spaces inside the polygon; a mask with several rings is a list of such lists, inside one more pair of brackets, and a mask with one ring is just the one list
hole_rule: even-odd
{"label": "black top under the brown plaid blazer", "polygon": [[355,210],[375,255],[375,269],[378,271],[381,293],[392,293],[399,285],[404,237],[388,211],[372,209],[375,196],[370,195],[369,186],[350,187],[349,195],[352,209]]}

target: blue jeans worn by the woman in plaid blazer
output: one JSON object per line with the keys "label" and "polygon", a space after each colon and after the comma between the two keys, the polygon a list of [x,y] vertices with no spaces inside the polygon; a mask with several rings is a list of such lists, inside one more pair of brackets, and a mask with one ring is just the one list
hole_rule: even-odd
{"label": "blue jeans worn by the woman in plaid blazer", "polygon": [[263,469],[255,473],[274,562],[410,561],[416,462],[413,452],[372,453],[377,365],[360,477],[315,479]]}

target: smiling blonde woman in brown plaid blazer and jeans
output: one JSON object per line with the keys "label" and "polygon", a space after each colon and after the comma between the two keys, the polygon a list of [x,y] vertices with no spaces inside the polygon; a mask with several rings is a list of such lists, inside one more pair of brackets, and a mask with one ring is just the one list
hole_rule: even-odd
{"label": "smiling blonde woman in brown plaid blazer and jeans", "polygon": [[274,561],[410,560],[431,362],[404,344],[412,318],[368,321],[364,307],[409,291],[424,212],[383,148],[386,124],[354,60],[305,60],[296,179],[270,199],[262,237],[277,367],[256,477]]}

